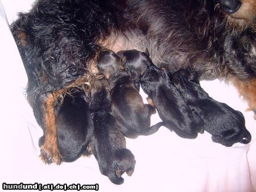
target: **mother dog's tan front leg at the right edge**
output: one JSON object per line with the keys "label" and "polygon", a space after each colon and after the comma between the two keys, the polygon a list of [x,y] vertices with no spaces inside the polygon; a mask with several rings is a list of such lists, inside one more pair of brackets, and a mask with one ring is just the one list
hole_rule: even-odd
{"label": "mother dog's tan front leg at the right edge", "polygon": [[[256,78],[250,80],[240,80],[236,77],[232,78],[233,85],[237,88],[240,96],[248,103],[248,111],[256,113]],[[254,115],[256,119],[256,115]]]}

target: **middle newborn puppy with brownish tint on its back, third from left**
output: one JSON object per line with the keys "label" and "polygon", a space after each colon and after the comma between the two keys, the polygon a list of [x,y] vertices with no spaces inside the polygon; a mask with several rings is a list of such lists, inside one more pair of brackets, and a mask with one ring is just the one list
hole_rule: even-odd
{"label": "middle newborn puppy with brownish tint on its back, third from left", "polygon": [[155,113],[155,107],[143,103],[130,75],[122,69],[123,62],[125,57],[121,60],[110,50],[102,51],[98,59],[98,69],[104,74],[110,87],[113,114],[126,137],[151,135],[158,131],[163,122],[150,127],[150,116]]}

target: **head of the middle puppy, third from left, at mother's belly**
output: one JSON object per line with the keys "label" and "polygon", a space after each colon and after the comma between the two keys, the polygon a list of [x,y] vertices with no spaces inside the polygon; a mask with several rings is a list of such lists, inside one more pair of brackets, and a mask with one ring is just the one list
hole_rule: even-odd
{"label": "head of the middle puppy, third from left, at mother's belly", "polygon": [[113,51],[102,49],[97,60],[98,70],[108,80],[109,76],[118,69],[123,69],[122,60]]}

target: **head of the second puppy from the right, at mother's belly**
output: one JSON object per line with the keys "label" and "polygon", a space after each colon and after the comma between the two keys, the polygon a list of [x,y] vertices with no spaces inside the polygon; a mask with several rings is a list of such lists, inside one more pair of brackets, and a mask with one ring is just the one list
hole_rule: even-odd
{"label": "head of the second puppy from the right, at mother's belly", "polygon": [[130,74],[134,82],[146,73],[146,70],[154,65],[148,56],[148,52],[140,52],[137,50],[119,51],[117,55],[122,58],[125,70]]}

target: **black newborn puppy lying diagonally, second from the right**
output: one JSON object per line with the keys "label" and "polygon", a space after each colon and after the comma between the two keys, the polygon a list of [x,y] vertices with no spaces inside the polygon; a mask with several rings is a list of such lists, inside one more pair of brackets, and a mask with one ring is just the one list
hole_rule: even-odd
{"label": "black newborn puppy lying diagonally, second from the right", "polygon": [[172,85],[171,74],[157,68],[146,53],[136,50],[121,51],[119,57],[126,58],[125,69],[133,81],[140,83],[143,91],[152,98],[164,125],[177,135],[193,139],[203,132],[203,122],[193,114],[179,91]]}

